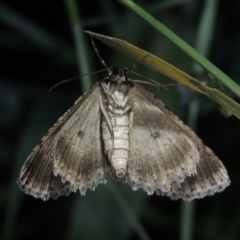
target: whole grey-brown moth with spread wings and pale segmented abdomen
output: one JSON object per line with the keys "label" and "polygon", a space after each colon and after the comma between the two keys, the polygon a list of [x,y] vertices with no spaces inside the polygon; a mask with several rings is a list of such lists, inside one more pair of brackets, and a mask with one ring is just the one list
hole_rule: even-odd
{"label": "whole grey-brown moth with spread wings and pale segmented abdomen", "polygon": [[24,163],[18,184],[48,200],[109,178],[171,199],[213,195],[227,170],[198,136],[123,67],[84,93],[58,119]]}

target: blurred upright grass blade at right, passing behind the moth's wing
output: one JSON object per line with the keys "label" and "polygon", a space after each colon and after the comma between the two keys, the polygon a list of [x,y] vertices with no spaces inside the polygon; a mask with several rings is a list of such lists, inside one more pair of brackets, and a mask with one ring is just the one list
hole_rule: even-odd
{"label": "blurred upright grass blade at right, passing behind the moth's wing", "polygon": [[[201,19],[197,29],[195,47],[203,54],[207,56],[209,47],[212,40],[212,33],[216,18],[217,2],[215,0],[206,1],[201,14]],[[201,68],[196,62],[193,63],[192,70],[196,76],[203,74],[203,68]],[[197,118],[199,113],[199,98],[193,94],[191,100],[189,99],[188,108],[188,120],[187,125],[196,132]],[[196,201],[182,201],[181,202],[181,214],[180,214],[180,240],[194,239],[194,222],[195,222],[195,208]]]}

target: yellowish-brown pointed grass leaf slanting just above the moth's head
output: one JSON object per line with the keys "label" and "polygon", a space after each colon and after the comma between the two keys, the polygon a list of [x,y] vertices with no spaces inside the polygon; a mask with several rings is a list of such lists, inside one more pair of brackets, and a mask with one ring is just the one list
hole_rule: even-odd
{"label": "yellowish-brown pointed grass leaf slanting just above the moth's head", "polygon": [[240,105],[217,89],[207,87],[180,69],[140,48],[129,44],[126,41],[89,31],[86,31],[86,33],[96,37],[101,42],[135,59],[136,61],[141,62],[153,70],[189,87],[190,89],[207,95],[240,119]]}

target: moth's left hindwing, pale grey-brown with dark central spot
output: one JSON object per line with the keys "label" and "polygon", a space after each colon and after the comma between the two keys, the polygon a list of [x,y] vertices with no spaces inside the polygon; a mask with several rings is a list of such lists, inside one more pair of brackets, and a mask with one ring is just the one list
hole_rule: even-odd
{"label": "moth's left hindwing, pale grey-brown with dark central spot", "polygon": [[101,134],[101,109],[98,93],[93,93],[74,116],[69,118],[56,136],[54,151],[54,174],[62,182],[70,182],[72,191],[95,188],[105,182],[110,174],[107,157],[103,151]]}

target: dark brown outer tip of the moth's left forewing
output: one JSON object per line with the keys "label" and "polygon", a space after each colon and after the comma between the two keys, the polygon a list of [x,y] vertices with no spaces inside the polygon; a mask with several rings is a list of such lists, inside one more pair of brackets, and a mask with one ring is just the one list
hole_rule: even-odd
{"label": "dark brown outer tip of the moth's left forewing", "polygon": [[42,141],[22,167],[18,179],[21,190],[43,200],[69,195],[69,183],[62,183],[61,178],[53,174],[52,143],[47,136]]}

